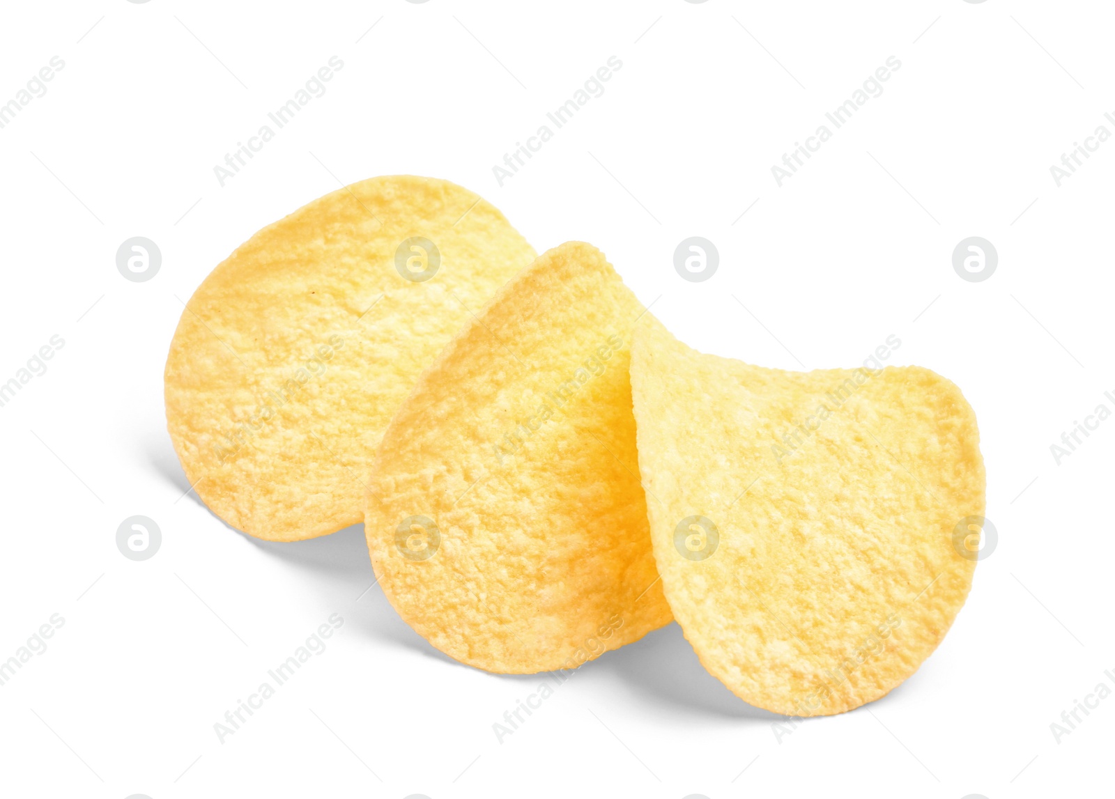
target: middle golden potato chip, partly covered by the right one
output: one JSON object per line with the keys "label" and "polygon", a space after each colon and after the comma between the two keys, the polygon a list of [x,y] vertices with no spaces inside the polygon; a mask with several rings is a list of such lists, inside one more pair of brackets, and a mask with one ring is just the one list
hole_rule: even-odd
{"label": "middle golden potato chip, partly covered by the right one", "polygon": [[488,671],[571,669],[670,621],[631,415],[646,311],[571,242],[516,275],[387,428],[365,529],[391,604]]}

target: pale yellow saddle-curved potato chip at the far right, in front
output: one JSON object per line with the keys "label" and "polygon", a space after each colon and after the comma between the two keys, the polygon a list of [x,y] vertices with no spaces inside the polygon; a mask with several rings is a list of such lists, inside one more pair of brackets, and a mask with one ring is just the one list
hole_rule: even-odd
{"label": "pale yellow saddle-curved potato chip at the far right, in front", "polygon": [[655,559],[705,668],[787,715],[910,676],[976,567],[983,462],[959,389],[917,367],[762,369],[649,315],[631,382]]}

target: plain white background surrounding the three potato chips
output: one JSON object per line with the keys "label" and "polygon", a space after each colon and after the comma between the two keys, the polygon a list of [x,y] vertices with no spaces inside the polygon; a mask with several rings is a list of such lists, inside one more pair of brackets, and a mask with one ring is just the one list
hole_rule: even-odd
{"label": "plain white background surrounding the three potato chips", "polygon": [[[1115,133],[1113,21],[1098,1],[6,3],[0,103],[66,66],[0,129],[0,382],[65,345],[0,408],[0,660],[65,624],[0,686],[0,791],[1109,795],[1115,698],[1059,743],[1049,725],[1113,684],[1115,421],[1059,466],[1049,446],[1115,409],[1115,143],[1060,187],[1049,167]],[[214,165],[330,56],[328,92],[222,187]],[[493,165],[610,56],[607,91],[501,187]],[[778,187],[783,153],[890,56],[885,91]],[[705,351],[854,367],[893,333],[892,362],[954,380],[999,543],[937,653],[779,740],[670,625],[500,743],[541,680],[452,662],[365,593],[359,526],[269,544],[187,495],[162,400],[182,301],[259,227],[396,173],[482,193],[540,252],[592,242]],[[149,282],[116,270],[136,235],[163,254]],[[720,254],[702,283],[672,265],[694,235]],[[952,269],[972,235],[998,250],[986,282]],[[163,533],[140,563],[115,543],[136,514]],[[334,613],[328,650],[220,743],[213,724]]]}

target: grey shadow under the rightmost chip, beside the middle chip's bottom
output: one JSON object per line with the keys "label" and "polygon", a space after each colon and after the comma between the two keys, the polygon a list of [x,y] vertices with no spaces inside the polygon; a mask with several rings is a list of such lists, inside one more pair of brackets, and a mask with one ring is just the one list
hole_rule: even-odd
{"label": "grey shadow under the rightmost chip, beside the middle chip's bottom", "polygon": [[[783,717],[747,704],[705,671],[677,622],[581,666],[590,679],[622,681],[637,692],[692,713],[777,721]],[[588,675],[586,675],[588,676]]]}

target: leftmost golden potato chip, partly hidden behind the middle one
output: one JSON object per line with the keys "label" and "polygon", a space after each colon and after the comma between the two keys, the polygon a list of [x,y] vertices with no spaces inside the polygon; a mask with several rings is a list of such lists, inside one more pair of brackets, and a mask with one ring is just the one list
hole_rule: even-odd
{"label": "leftmost golden potato chip, partly hidden behind the middle one", "polygon": [[264,227],[186,303],[166,419],[233,527],[301,540],[360,520],[370,454],[418,374],[534,250],[446,181],[376,177]]}

